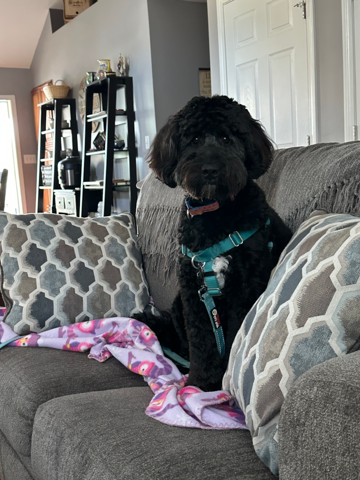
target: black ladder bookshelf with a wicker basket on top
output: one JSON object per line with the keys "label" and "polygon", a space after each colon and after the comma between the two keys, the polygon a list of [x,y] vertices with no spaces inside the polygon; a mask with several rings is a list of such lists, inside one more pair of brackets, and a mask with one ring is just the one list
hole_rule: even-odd
{"label": "black ladder bookshelf with a wicker basket on top", "polygon": [[[35,212],[43,212],[44,191],[50,190],[50,213],[56,213],[54,190],[60,189],[58,180],[57,164],[61,159],[61,138],[63,132],[71,131],[69,135],[72,138],[72,155],[79,154],[77,147],[77,122],[74,98],[54,98],[48,102],[40,103],[40,121],[39,121],[39,142],[38,142],[38,165],[37,165],[37,184],[36,184],[36,206]],[[61,122],[64,120],[63,109],[70,108],[70,125],[68,128],[61,128]],[[48,117],[48,111],[52,112],[52,117]],[[53,128],[47,128],[47,120],[53,120]],[[46,158],[47,135],[52,135],[52,157]],[[68,137],[68,136],[67,136]],[[41,167],[52,166],[51,185],[43,185]],[[76,192],[80,195],[80,192]]]}

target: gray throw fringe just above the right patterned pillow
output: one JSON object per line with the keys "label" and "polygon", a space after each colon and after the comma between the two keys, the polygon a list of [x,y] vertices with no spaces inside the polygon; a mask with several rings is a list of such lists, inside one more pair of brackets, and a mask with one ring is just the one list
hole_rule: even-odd
{"label": "gray throw fringe just above the right patterned pillow", "polygon": [[285,223],[295,231],[314,210],[360,216],[360,175],[326,186],[307,203],[296,208],[285,218]]}

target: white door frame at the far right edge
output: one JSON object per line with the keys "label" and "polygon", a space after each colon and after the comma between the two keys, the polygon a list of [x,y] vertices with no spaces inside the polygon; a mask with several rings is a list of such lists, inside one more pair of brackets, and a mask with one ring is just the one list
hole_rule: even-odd
{"label": "white door frame at the far right edge", "polygon": [[[357,139],[354,0],[341,0],[344,71],[344,141]],[[355,126],[355,129],[354,129]]]}

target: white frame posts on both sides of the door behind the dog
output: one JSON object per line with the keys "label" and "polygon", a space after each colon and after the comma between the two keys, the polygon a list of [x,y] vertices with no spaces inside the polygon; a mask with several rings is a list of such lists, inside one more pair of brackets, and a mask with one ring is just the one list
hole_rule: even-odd
{"label": "white frame posts on both sides of the door behind the dog", "polygon": [[[225,23],[224,5],[234,0],[216,0],[217,28],[219,42],[220,63],[220,93],[227,95],[226,74],[226,49],[225,49]],[[351,1],[351,0],[345,0]],[[306,0],[306,39],[308,52],[308,90],[309,90],[309,127],[310,143],[318,142],[317,119],[317,69],[316,69],[316,43],[315,43],[315,4],[314,0]]]}

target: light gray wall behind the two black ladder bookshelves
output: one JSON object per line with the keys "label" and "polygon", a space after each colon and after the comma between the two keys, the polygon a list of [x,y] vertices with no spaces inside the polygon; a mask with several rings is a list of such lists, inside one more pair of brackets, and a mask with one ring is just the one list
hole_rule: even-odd
{"label": "light gray wall behind the two black ladder bookshelves", "polygon": [[[134,79],[136,119],[139,122],[140,176],[147,173],[142,158],[144,136],[155,135],[149,23],[146,0],[102,0],[81,15],[51,32],[48,15],[31,64],[33,86],[50,78],[61,78],[72,87],[69,96],[77,98],[81,79],[96,71],[98,58],[109,58],[115,70],[119,53],[129,59]],[[82,124],[79,120],[82,135]]]}

